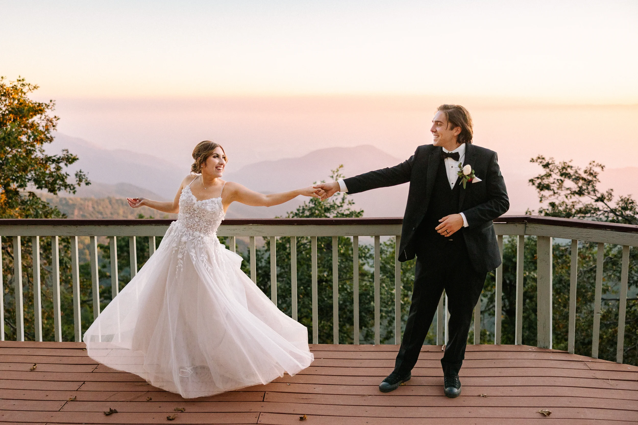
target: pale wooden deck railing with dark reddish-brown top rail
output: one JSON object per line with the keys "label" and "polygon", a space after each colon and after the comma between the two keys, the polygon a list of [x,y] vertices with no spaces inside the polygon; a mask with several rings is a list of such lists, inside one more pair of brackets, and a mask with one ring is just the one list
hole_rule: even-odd
{"label": "pale wooden deck railing with dark reddish-brown top rail", "polygon": [[[24,340],[24,306],[22,299],[22,259],[20,238],[30,236],[35,249],[33,259],[34,282],[34,321],[35,338],[42,340],[41,299],[40,299],[40,236],[52,236],[52,275],[53,275],[53,306],[55,339],[61,341],[61,306],[59,281],[59,237],[71,238],[71,275],[73,279],[73,317],[75,324],[75,340],[80,341],[82,327],[80,323],[80,274],[78,260],[78,236],[89,236],[89,252],[91,263],[91,278],[93,282],[93,315],[100,314],[100,300],[98,287],[98,248],[97,237],[108,236],[110,239],[110,274],[112,296],[118,292],[117,271],[117,243],[121,236],[128,236],[130,241],[131,278],[137,273],[137,256],[135,255],[137,237],[149,238],[150,254],[155,250],[155,238],[163,236],[172,220],[66,220],[66,219],[9,219],[0,220],[0,235],[13,238],[13,275],[15,285],[16,329],[17,340]],[[250,251],[250,277],[256,282],[255,238],[263,237],[271,240],[271,299],[277,302],[277,267],[276,243],[279,236],[291,238],[291,287],[292,287],[292,317],[297,319],[297,254],[296,238],[306,236],[311,238],[311,270],[312,270],[312,342],[318,343],[318,288],[317,288],[317,238],[331,236],[333,246],[338,243],[338,236],[352,236],[353,238],[353,271],[359,270],[359,236],[373,236],[374,238],[374,303],[375,303],[375,344],[380,343],[380,237],[394,236],[396,244],[401,241],[400,218],[362,218],[362,219],[235,219],[225,220],[219,227],[219,236],[230,236],[231,250],[235,250],[235,238],[248,236]],[[556,219],[553,217],[503,216],[494,220],[494,228],[498,235],[498,246],[503,254],[503,235],[516,237],[516,331],[515,343],[521,344],[523,338],[523,261],[524,236],[537,236],[537,345],[538,347],[552,347],[552,238],[572,240],[571,275],[569,296],[568,322],[568,351],[574,352],[576,287],[577,287],[577,253],[578,241],[598,243],[595,301],[593,317],[593,344],[591,357],[598,357],[598,341],[600,336],[600,304],[602,300],[602,271],[604,260],[604,244],[623,245],[621,262],[621,288],[618,312],[618,343],[616,347],[616,361],[623,361],[625,310],[627,306],[627,284],[629,270],[629,249],[638,246],[638,226],[625,224],[611,224],[606,222],[592,222],[574,219]],[[395,250],[397,251],[397,250]],[[2,255],[0,251],[0,256]],[[397,336],[401,335],[401,267],[396,261],[395,254],[395,329]],[[333,343],[339,343],[339,303],[338,303],[338,250],[332,250],[332,278],[333,278]],[[1,264],[1,257],[0,257]],[[0,273],[0,284],[2,275]],[[501,343],[501,300],[503,284],[503,267],[496,270],[496,294],[494,308],[494,343]],[[4,317],[3,291],[0,291],[0,317]],[[436,342],[441,345],[444,331],[447,331],[447,311],[445,296],[441,296],[437,312]],[[474,343],[480,343],[480,300],[475,308]],[[359,273],[353,273],[353,338],[359,341]],[[4,340],[4,326],[1,327],[1,339]]]}

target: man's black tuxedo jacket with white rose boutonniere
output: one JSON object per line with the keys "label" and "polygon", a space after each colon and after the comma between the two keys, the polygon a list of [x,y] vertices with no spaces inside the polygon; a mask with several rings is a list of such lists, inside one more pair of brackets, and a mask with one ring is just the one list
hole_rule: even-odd
{"label": "man's black tuxedo jacket with white rose boutonniere", "polygon": [[[496,243],[492,220],[507,212],[510,201],[507,198],[505,180],[498,167],[498,155],[493,150],[466,143],[463,165],[470,164],[480,182],[468,183],[461,187],[459,212],[463,212],[468,227],[463,229],[465,245],[473,268],[478,272],[494,270],[501,264],[501,255]],[[441,147],[422,145],[414,155],[391,167],[346,178],[348,193],[369,191],[377,187],[394,186],[410,182],[408,205],[403,216],[399,261],[415,257],[417,241],[415,231],[427,212],[434,178],[441,163]],[[457,180],[459,184],[460,180]]]}

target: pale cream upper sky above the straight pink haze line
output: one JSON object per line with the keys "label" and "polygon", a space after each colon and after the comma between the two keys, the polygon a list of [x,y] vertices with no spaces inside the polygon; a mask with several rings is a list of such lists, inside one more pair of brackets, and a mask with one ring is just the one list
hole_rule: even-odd
{"label": "pale cream upper sky above the straight pink haze line", "polygon": [[463,95],[638,103],[638,2],[6,1],[41,96]]}

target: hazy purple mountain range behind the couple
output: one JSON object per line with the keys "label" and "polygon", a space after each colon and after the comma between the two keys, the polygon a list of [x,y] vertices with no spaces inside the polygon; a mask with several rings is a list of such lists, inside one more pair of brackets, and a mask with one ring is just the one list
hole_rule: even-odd
{"label": "hazy purple mountain range behind the couple", "polygon": [[[188,174],[184,169],[172,162],[159,159],[151,154],[137,154],[128,150],[108,150],[105,148],[65,134],[57,134],[56,140],[47,146],[47,153],[57,154],[63,148],[68,148],[79,160],[69,167],[73,174],[82,169],[89,176],[91,185],[78,188],[77,194],[61,194],[62,197],[121,199],[126,197],[144,196],[158,200],[173,199],[179,182]],[[394,166],[403,159],[393,157],[371,145],[358,147],[323,148],[310,152],[301,157],[285,157],[274,161],[259,161],[239,169],[233,167],[233,157],[229,157],[226,165],[225,180],[241,183],[254,191],[273,193],[290,191],[298,187],[311,185],[321,180],[330,180],[331,170],[343,164],[341,173],[345,176],[357,175],[372,169]],[[539,169],[540,173],[540,169]],[[527,180],[530,176],[505,175],[505,182],[510,195],[510,214],[524,213],[526,209],[538,208],[538,198],[535,190]],[[634,182],[638,181],[638,168],[606,169],[600,175],[600,189],[614,189],[615,194],[635,193]],[[355,201],[355,208],[362,208],[366,217],[397,217],[402,216],[408,195],[408,185],[385,187],[375,191],[362,192],[351,196]],[[120,203],[122,205],[120,205]],[[109,205],[118,205],[118,212],[108,215],[111,218],[124,213],[128,208],[123,199],[112,201]],[[79,201],[57,201],[57,205],[72,209],[73,217],[82,215]],[[272,207],[254,207],[234,203],[228,209],[228,218],[270,218],[285,216],[287,212],[295,210],[304,199],[296,198],[288,203]],[[73,208],[71,208],[73,203]],[[103,206],[108,208],[107,205]],[[93,201],[87,204],[93,211],[90,215],[96,217]],[[101,208],[101,206],[100,206]],[[123,208],[123,209],[122,209]],[[70,215],[70,216],[71,216]],[[137,215],[137,213],[135,213]],[[144,215],[149,215],[145,212]],[[155,217],[161,216],[156,213]],[[79,218],[79,217],[78,217]],[[89,217],[87,217],[89,218]],[[97,218],[97,217],[96,217]],[[122,217],[124,218],[124,217]]]}

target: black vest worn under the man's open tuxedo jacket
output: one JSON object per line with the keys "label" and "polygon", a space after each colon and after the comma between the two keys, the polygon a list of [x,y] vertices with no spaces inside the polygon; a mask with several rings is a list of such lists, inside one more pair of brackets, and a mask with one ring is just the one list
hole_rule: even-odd
{"label": "black vest worn under the man's open tuxedo jacket", "polygon": [[[438,226],[439,220],[446,215],[459,213],[459,197],[463,190],[463,185],[459,184],[460,180],[457,178],[454,183],[454,187],[450,189],[450,181],[447,179],[447,173],[445,170],[445,161],[441,159],[439,162],[438,171],[436,171],[436,178],[434,179],[434,189],[430,198],[430,203],[427,206],[427,212],[419,229],[417,229],[417,237],[422,240],[432,241],[447,241],[450,238],[452,240],[463,240],[463,227],[459,229],[454,236],[446,238],[437,233],[435,229]],[[456,171],[456,170],[455,170]]]}

